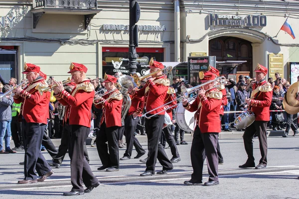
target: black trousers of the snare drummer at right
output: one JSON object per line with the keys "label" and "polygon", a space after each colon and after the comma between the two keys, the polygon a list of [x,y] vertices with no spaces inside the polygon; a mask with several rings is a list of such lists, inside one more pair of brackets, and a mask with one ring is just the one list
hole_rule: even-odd
{"label": "black trousers of the snare drummer at right", "polygon": [[254,134],[257,134],[260,140],[260,151],[262,155],[259,164],[267,165],[267,122],[268,121],[254,121],[245,129],[243,140],[245,151],[248,155],[247,164],[254,164],[252,138]]}

